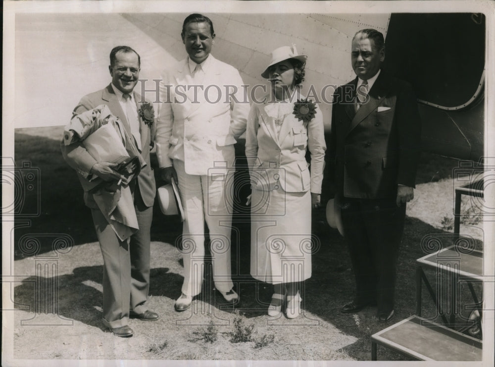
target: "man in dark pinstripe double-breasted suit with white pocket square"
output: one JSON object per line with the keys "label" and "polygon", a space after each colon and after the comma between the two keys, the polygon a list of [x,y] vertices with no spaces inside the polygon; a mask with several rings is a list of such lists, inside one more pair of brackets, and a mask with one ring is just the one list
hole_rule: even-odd
{"label": "man in dark pinstripe double-breasted suit with white pocket square", "polygon": [[383,35],[373,29],[352,39],[357,77],[334,94],[327,162],[356,280],[343,313],[378,306],[394,315],[396,263],[406,203],[414,197],[421,122],[411,86],[387,75]]}

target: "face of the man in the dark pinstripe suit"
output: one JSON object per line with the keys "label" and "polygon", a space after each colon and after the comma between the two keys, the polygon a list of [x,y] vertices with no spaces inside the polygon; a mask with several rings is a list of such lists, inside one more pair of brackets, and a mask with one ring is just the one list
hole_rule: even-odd
{"label": "face of the man in the dark pinstripe suit", "polygon": [[375,41],[369,38],[352,41],[351,64],[359,78],[368,80],[375,76],[384,60],[385,50],[377,50]]}

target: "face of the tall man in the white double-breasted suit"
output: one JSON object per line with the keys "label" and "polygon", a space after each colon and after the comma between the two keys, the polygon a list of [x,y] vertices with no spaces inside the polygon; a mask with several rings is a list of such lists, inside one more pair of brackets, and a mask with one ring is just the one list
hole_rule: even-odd
{"label": "face of the tall man in the white double-breasted suit", "polygon": [[189,57],[200,64],[211,52],[215,34],[211,34],[210,25],[206,22],[188,23],[181,35]]}

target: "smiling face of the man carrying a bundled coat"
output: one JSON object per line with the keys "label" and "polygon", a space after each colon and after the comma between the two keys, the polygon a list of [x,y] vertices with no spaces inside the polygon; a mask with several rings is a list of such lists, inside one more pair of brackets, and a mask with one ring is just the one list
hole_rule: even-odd
{"label": "smiling face of the man carrying a bundled coat", "polygon": [[119,51],[115,54],[115,62],[108,66],[112,83],[124,94],[132,93],[139,79],[139,59],[135,52]]}

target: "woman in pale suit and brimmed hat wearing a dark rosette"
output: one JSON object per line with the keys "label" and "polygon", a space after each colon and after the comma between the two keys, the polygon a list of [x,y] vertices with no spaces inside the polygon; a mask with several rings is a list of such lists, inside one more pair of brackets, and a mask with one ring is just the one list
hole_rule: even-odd
{"label": "woman in pale suit and brimmed hat wearing a dark rosette", "polygon": [[[268,315],[300,314],[301,282],[311,276],[311,208],[320,205],[325,156],[323,118],[299,93],[306,55],[272,52],[261,76],[270,82],[247,120],[251,177],[251,275],[274,285]],[[311,169],[305,159],[311,154]]]}

